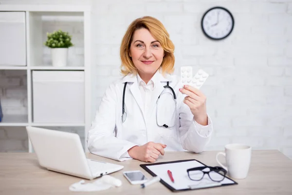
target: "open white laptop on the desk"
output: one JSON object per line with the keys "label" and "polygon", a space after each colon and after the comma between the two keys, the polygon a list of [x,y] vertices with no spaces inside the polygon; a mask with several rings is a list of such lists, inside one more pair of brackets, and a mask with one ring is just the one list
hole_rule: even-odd
{"label": "open white laptop on the desk", "polygon": [[122,165],[88,159],[78,134],[26,127],[40,166],[48,170],[94,179],[124,168]]}

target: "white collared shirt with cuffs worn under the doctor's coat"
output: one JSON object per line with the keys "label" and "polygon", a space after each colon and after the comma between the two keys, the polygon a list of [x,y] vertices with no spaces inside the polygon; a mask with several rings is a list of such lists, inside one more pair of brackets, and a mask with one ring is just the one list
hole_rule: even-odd
{"label": "white collared shirt with cuffs worn under the doctor's coat", "polygon": [[[157,71],[154,76],[148,81],[148,83],[146,84],[144,80],[142,80],[142,78],[140,77],[139,74],[137,74],[137,80],[138,80],[138,84],[139,84],[139,89],[141,92],[141,96],[143,99],[143,103],[144,103],[144,110],[143,112],[145,114],[147,114],[148,111],[148,107],[149,104],[151,102],[151,95],[152,92],[155,88],[155,83],[157,82],[157,75],[158,75]],[[201,124],[199,124],[196,120],[194,120],[196,131],[198,132],[198,134],[200,134],[202,137],[208,137],[210,136],[211,133],[211,128],[210,128],[210,121],[209,121],[209,117],[208,117],[208,124],[206,126],[203,126]],[[129,157],[128,152],[124,153],[121,157]]]}

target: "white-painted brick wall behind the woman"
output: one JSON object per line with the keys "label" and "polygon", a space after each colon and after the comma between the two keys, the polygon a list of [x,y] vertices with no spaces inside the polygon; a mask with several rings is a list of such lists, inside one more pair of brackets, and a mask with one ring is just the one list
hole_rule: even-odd
{"label": "white-painted brick wall behind the woman", "polygon": [[[23,3],[22,0],[0,2]],[[69,0],[27,1],[34,2],[55,4]],[[92,4],[95,15],[92,40],[97,70],[95,108],[106,87],[119,78],[119,45],[129,23],[137,17],[154,16],[164,23],[175,43],[175,73],[180,66],[192,65],[195,70],[200,67],[210,74],[201,88],[207,96],[207,109],[214,124],[207,149],[222,150],[227,143],[242,142],[254,149],[278,149],[292,158],[292,0],[86,0],[84,3]],[[222,41],[209,40],[201,32],[201,17],[213,6],[226,7],[235,18],[234,31]],[[11,76],[2,73],[0,77],[1,80]],[[9,86],[11,83],[6,90],[0,90],[1,97],[6,97],[7,88],[13,88]],[[1,84],[0,87],[4,88]],[[27,138],[24,134],[23,139],[9,137],[10,129],[0,129],[0,150],[15,149],[18,142],[10,144],[13,142],[7,140]],[[24,129],[19,128],[20,131]],[[6,144],[2,144],[3,140]]]}

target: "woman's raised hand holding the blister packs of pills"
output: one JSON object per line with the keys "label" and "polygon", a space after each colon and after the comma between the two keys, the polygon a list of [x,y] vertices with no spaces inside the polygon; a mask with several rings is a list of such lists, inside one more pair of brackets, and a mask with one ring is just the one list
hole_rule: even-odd
{"label": "woman's raised hand holding the blister packs of pills", "polygon": [[188,105],[191,109],[194,119],[201,125],[208,124],[207,109],[206,109],[206,97],[199,89],[196,89],[190,85],[184,85],[180,89],[182,94],[187,95],[183,103]]}

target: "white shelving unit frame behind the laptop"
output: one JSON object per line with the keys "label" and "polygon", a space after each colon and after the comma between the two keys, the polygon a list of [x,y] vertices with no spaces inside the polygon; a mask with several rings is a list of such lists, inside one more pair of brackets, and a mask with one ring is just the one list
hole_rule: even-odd
{"label": "white shelving unit frame behind the laptop", "polygon": [[[51,126],[51,127],[84,127],[84,136],[87,138],[91,127],[91,89],[92,89],[92,64],[91,52],[91,6],[89,5],[0,5],[0,12],[24,12],[25,13],[25,34],[26,34],[26,66],[23,65],[0,65],[0,70],[26,70],[27,71],[27,115],[5,115],[0,126]],[[42,64],[43,38],[42,18],[45,17],[66,17],[67,19],[83,19],[84,27],[84,63],[80,66],[53,67]],[[58,30],[58,29],[56,29]],[[33,82],[32,71],[34,70],[64,70],[84,71],[84,123],[36,123],[33,121]],[[29,141],[29,152],[32,152]],[[85,141],[85,151],[88,152]]]}

